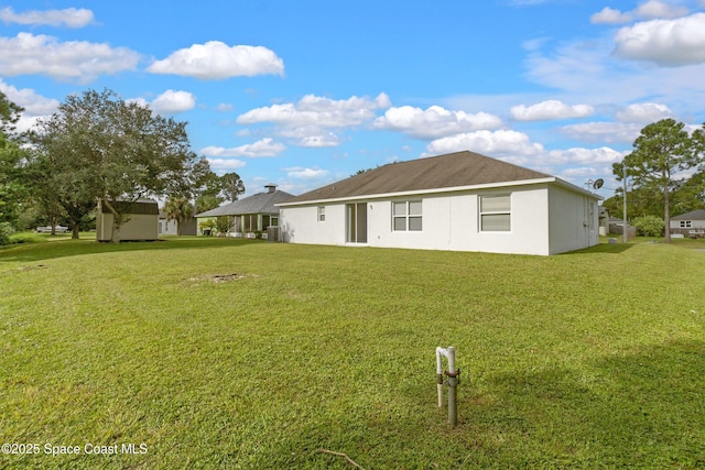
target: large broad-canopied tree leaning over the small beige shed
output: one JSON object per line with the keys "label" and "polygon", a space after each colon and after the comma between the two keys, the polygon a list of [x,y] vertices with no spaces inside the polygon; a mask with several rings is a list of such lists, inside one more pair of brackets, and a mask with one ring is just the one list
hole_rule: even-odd
{"label": "large broad-canopied tree leaning over the small beige shed", "polygon": [[[111,240],[127,221],[117,200],[189,193],[203,161],[191,150],[186,123],[164,118],[113,91],[68,96],[31,133],[36,166],[74,222],[101,201],[112,214]],[[206,162],[207,164],[207,162]]]}

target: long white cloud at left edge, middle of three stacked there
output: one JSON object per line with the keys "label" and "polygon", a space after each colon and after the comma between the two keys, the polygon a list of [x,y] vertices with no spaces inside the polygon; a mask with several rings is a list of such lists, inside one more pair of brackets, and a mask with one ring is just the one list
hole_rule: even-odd
{"label": "long white cloud at left edge, middle of three stacked there", "polygon": [[108,44],[59,42],[31,33],[0,37],[0,69],[6,77],[41,74],[85,84],[99,75],[132,70],[139,61],[138,53]]}

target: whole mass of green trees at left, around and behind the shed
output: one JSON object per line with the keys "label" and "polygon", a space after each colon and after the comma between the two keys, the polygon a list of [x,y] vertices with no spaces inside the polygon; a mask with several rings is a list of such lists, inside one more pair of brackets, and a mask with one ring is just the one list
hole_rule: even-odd
{"label": "whole mass of green trees at left, around and behind the shed", "polygon": [[[159,116],[108,89],[70,95],[26,132],[14,124],[23,109],[0,92],[0,231],[64,221],[78,238],[97,203],[112,215],[112,240],[141,198],[165,198],[169,219],[237,200],[237,173],[217,176],[191,150],[186,122]],[[2,237],[0,237],[1,241]]]}

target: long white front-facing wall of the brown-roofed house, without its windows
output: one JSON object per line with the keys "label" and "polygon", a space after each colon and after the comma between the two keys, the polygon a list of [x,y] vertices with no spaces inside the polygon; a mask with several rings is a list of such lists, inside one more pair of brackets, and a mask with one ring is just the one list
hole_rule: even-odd
{"label": "long white front-facing wall of the brown-roofed house, without its windows", "polygon": [[[568,206],[575,204],[573,199],[589,200],[578,194],[572,196],[571,192],[564,193],[565,195],[557,196],[571,199],[572,203],[566,203]],[[480,231],[479,196],[502,194],[511,194],[511,230],[508,232]],[[358,199],[355,203],[367,204],[368,240],[365,245],[369,247],[543,255],[588,247],[589,244],[579,244],[587,243],[587,239],[582,242],[571,240],[568,232],[573,229],[558,227],[553,230],[555,233],[551,237],[550,227],[553,227],[553,223],[550,223],[549,194],[549,185],[533,185],[453,194]],[[419,199],[423,201],[422,231],[392,230],[392,201]],[[596,200],[594,206],[596,231]],[[317,207],[318,205],[281,207],[280,226],[283,241],[346,244],[346,203],[326,204],[324,222],[317,220]],[[557,204],[555,209],[561,210],[561,204]],[[555,239],[555,245],[551,243],[552,238]],[[595,234],[596,242],[597,234]]]}

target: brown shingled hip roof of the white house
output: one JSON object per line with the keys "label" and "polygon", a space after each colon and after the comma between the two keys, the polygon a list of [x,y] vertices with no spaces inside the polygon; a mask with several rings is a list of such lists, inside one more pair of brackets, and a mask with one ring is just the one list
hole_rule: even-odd
{"label": "brown shingled hip roof of the white house", "polygon": [[[464,151],[391,163],[289,199],[282,206],[394,193],[460,188],[541,179],[558,182],[545,173]],[[561,182],[564,183],[564,182]],[[565,185],[570,185],[564,183]],[[576,190],[583,192],[578,187]],[[589,193],[588,193],[589,194]],[[595,196],[597,198],[597,196]]]}

